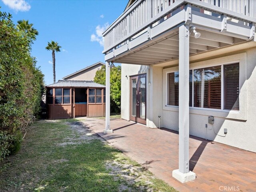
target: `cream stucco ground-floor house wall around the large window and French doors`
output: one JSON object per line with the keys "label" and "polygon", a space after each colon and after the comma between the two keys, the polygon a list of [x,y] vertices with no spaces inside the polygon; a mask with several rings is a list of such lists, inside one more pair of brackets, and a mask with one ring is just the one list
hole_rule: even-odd
{"label": "cream stucco ground-floor house wall around the large window and French doors", "polygon": [[[248,48],[214,58],[194,59],[190,68],[218,64],[240,63],[240,111],[190,107],[190,135],[256,152],[256,48]],[[130,78],[136,74],[147,74],[147,123],[150,128],[160,126],[178,131],[178,107],[166,106],[166,72],[178,70],[178,61],[172,65],[140,66],[122,64],[121,118],[129,119]],[[127,75],[127,77],[126,77]],[[150,82],[150,84],[149,84]],[[214,124],[208,124],[208,116],[214,116]],[[228,133],[224,134],[224,128]],[[218,134],[218,135],[216,135]]]}

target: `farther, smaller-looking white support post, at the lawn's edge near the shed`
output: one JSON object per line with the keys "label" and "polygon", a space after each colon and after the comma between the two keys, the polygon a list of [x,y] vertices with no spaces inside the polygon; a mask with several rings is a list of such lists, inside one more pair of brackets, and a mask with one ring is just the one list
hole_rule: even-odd
{"label": "farther, smaller-looking white support post, at the lawn's edge near the shed", "polygon": [[112,133],[110,129],[110,64],[106,62],[106,127],[103,131],[105,134]]}

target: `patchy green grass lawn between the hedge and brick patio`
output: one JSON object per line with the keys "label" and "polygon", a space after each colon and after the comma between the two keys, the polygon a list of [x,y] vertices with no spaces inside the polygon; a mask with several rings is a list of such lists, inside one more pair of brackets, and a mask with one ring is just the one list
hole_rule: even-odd
{"label": "patchy green grass lawn between the hedge and brick patio", "polygon": [[0,163],[0,191],[176,192],[78,120],[35,122]]}

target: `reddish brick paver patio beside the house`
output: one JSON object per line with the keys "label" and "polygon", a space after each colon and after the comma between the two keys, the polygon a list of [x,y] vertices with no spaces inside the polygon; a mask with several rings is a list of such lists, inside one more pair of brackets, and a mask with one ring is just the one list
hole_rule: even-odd
{"label": "reddish brick paver patio beside the house", "polygon": [[178,132],[115,119],[110,121],[114,133],[104,135],[105,120],[86,118],[85,124],[180,192],[256,192],[256,153],[190,136],[196,180],[182,184],[172,177],[178,169]]}

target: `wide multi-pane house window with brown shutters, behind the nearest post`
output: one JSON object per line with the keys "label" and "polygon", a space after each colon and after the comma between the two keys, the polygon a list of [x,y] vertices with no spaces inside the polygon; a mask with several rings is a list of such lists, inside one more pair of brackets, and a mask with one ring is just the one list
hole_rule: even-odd
{"label": "wide multi-pane house window with brown shutters, behind the nearest post", "polygon": [[[167,105],[179,105],[178,72],[167,73]],[[190,70],[189,106],[239,110],[239,63]]]}

